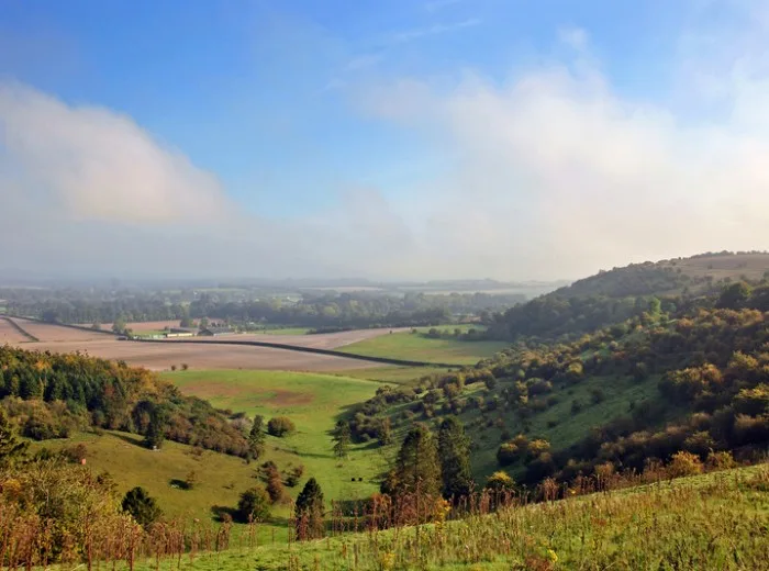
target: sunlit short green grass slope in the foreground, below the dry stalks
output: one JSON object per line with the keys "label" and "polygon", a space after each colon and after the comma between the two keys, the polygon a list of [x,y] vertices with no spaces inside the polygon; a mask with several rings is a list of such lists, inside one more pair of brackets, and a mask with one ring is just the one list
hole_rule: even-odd
{"label": "sunlit short green grass slope in the foreground, below the dry stalks", "polygon": [[[766,569],[767,464],[435,526],[203,555],[181,569]],[[554,563],[555,561],[555,563]],[[140,569],[154,569],[154,561]]]}

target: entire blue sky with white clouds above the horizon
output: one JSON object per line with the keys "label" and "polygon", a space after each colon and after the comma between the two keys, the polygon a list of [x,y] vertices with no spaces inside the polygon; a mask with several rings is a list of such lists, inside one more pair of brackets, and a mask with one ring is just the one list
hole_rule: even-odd
{"label": "entire blue sky with white clouds above the horizon", "polygon": [[0,0],[0,275],[769,249],[764,0]]}

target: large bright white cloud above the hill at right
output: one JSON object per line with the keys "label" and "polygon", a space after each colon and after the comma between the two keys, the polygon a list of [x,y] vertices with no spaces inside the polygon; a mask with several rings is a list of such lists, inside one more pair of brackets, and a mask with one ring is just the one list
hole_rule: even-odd
{"label": "large bright white cloud above the hill at right", "polygon": [[[567,38],[587,48],[587,35]],[[432,220],[423,251],[452,256],[425,258],[425,272],[578,277],[769,248],[766,69],[736,58],[721,77],[732,111],[696,122],[618,94],[581,55],[504,83],[470,74],[446,90],[402,79],[361,107],[457,157],[422,212]]]}

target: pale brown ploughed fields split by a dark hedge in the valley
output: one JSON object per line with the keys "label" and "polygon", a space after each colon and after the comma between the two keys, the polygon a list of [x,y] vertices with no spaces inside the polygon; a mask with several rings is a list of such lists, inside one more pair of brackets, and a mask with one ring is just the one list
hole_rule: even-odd
{"label": "pale brown ploughed fields split by a dark hedge in the valley", "polygon": [[[21,336],[9,340],[30,350],[49,350],[55,352],[83,351],[92,357],[104,359],[122,359],[130,365],[142,366],[153,370],[166,370],[171,365],[177,367],[182,362],[194,369],[285,369],[297,371],[332,371],[343,369],[360,369],[364,367],[381,367],[379,363],[314,355],[283,349],[271,349],[249,346],[226,346],[183,343],[134,343],[120,342],[114,337],[100,333],[73,329],[44,323],[15,320],[25,331],[40,339],[40,343],[23,343]],[[4,322],[4,320],[0,320]],[[5,324],[11,328],[10,324]],[[2,323],[0,323],[2,327]],[[5,331],[0,329],[0,334]],[[10,333],[10,332],[9,332]],[[218,339],[233,340],[276,340],[279,343],[299,345],[304,342],[311,347],[335,348],[356,340],[386,335],[389,329],[363,329],[325,335],[232,335]],[[294,339],[300,343],[294,343]]]}

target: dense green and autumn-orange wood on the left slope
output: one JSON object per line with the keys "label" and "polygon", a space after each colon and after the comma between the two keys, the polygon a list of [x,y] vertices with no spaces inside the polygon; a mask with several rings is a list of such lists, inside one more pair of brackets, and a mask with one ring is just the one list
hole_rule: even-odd
{"label": "dense green and autumn-orange wood on the left slope", "polygon": [[241,457],[252,451],[244,429],[208,402],[123,361],[0,347],[0,399],[19,432],[36,440],[96,428],[143,435],[148,447],[168,438]]}

